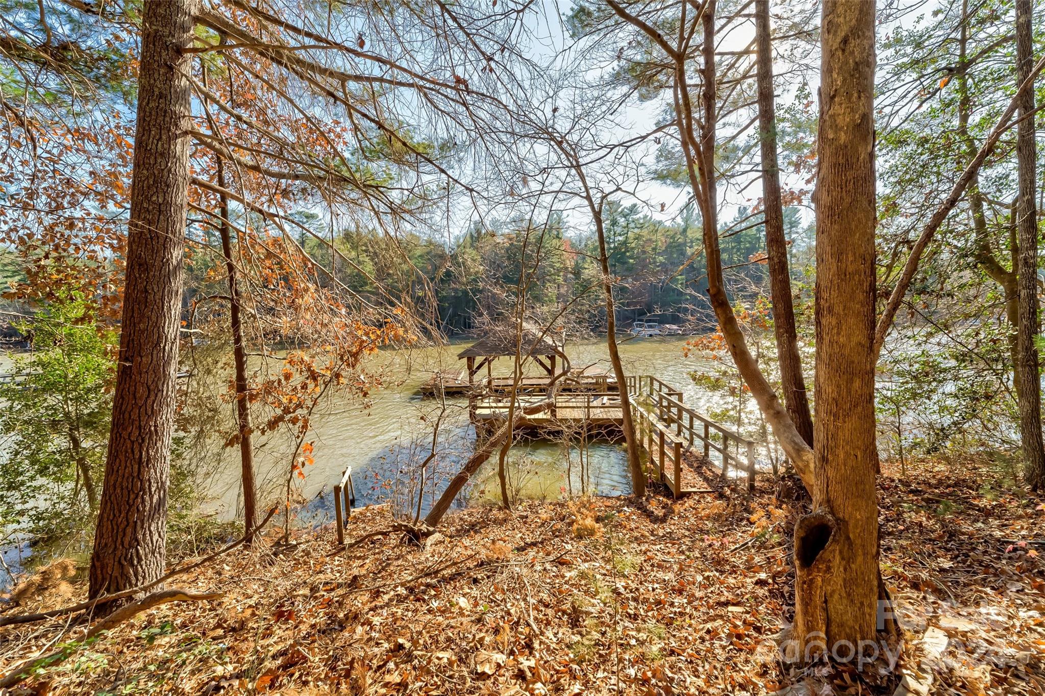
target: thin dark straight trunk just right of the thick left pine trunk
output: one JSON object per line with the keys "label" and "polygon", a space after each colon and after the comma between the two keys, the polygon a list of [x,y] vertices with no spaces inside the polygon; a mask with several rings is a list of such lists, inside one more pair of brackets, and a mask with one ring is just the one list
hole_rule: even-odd
{"label": "thin dark straight trunk just right of the thick left pine trunk", "polygon": [[[217,159],[217,185],[225,188],[225,165]],[[257,489],[254,483],[254,447],[251,443],[251,404],[247,399],[247,347],[243,345],[243,329],[239,318],[241,301],[236,281],[236,264],[232,257],[232,229],[229,224],[229,199],[219,196],[222,254],[229,279],[229,324],[232,329],[232,359],[235,365],[236,427],[239,433],[239,470],[243,487],[243,529],[246,544],[253,541],[253,530],[257,526]]]}

